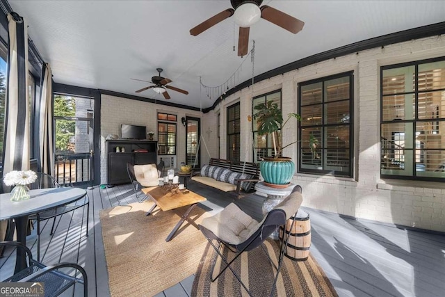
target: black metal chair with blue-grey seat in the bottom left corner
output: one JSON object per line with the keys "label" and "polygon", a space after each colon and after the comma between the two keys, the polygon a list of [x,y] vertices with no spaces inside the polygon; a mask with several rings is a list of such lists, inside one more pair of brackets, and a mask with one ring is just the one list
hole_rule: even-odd
{"label": "black metal chair with blue-grey seat in the bottom left corner", "polygon": [[[46,266],[35,259],[29,248],[17,241],[1,241],[0,246],[13,246],[23,249],[28,256],[28,267],[9,276],[1,282],[44,282],[44,296],[59,296],[76,283],[83,284],[83,296],[88,296],[88,277],[86,271],[75,263],[59,263]],[[82,278],[77,275],[81,273]],[[2,273],[3,275],[3,273]]]}

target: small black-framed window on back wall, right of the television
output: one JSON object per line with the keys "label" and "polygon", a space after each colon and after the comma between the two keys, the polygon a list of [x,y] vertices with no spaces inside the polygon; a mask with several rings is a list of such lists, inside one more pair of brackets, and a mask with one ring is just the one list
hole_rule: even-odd
{"label": "small black-framed window on back wall, right of the television", "polygon": [[176,154],[177,115],[158,113],[158,154]]}

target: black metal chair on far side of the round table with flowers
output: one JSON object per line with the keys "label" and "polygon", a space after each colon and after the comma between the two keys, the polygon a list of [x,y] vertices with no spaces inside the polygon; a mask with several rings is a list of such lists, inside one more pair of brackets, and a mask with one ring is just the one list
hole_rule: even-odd
{"label": "black metal chair on far side of the round table with flowers", "polygon": [[[51,175],[48,175],[47,173],[43,172],[36,172],[37,179],[35,182],[29,185],[30,189],[35,188],[58,188],[60,185],[56,181],[54,177]],[[49,220],[50,218],[54,218],[53,224],[51,226],[51,232],[49,232],[50,235],[54,233],[54,226],[56,225],[56,217],[61,216],[63,214],[66,214],[67,212],[74,211],[75,209],[78,209],[80,207],[87,207],[87,213],[86,213],[86,237],[88,236],[88,220],[90,218],[90,200],[88,199],[88,195],[85,195],[85,198],[78,200],[76,202],[63,205],[62,207],[55,207],[54,209],[49,209],[47,211],[40,212],[38,214],[33,214],[32,216],[29,216],[30,220],[36,220],[37,222],[37,260],[40,261],[40,233],[42,230],[40,230],[40,222],[42,220]]]}

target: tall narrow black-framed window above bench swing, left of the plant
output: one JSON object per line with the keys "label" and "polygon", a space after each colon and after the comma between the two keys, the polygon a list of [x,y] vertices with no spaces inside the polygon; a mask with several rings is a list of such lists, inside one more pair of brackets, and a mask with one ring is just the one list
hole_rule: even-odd
{"label": "tall narrow black-framed window above bench swing, left of the plant", "polygon": [[240,125],[241,113],[239,102],[227,107],[227,159],[240,161]]}

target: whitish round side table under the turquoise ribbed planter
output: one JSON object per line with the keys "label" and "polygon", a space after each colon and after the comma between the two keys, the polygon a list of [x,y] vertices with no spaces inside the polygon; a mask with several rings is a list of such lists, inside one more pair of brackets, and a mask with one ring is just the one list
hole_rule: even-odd
{"label": "whitish round side table under the turquoise ribbed planter", "polygon": [[[255,184],[255,190],[259,193],[264,193],[267,195],[266,201],[263,204],[263,214],[266,215],[269,211],[271,211],[277,204],[282,202],[284,198],[289,196],[292,193],[293,187],[295,184],[291,184],[286,188],[273,188],[271,186],[266,186],[264,182],[257,182]],[[279,240],[280,232],[279,230],[275,230],[269,236],[270,239]]]}

